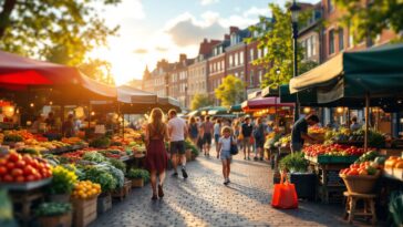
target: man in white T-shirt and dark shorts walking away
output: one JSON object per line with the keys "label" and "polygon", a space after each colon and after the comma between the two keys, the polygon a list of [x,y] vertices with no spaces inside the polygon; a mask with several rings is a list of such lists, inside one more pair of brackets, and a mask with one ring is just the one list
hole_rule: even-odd
{"label": "man in white T-shirt and dark shorts walking away", "polygon": [[184,178],[187,178],[186,173],[186,155],[185,155],[185,138],[187,136],[187,126],[186,122],[179,117],[177,117],[177,113],[175,110],[170,110],[168,112],[169,121],[168,121],[168,132],[169,132],[169,149],[172,163],[174,165],[174,176],[177,176],[177,155],[180,155],[182,163],[182,174]]}

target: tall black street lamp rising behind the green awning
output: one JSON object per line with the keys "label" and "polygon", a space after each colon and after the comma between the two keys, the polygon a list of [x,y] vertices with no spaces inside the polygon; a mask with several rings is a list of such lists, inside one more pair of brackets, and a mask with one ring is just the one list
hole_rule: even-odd
{"label": "tall black street lamp rising behind the green awning", "polygon": [[[292,22],[292,40],[293,40],[293,78],[298,76],[298,59],[297,59],[297,50],[298,50],[298,13],[301,8],[297,4],[296,0],[292,1],[290,7],[291,11],[291,22]],[[297,93],[296,101],[296,110],[293,114],[293,121],[298,121],[299,118],[299,101]]]}

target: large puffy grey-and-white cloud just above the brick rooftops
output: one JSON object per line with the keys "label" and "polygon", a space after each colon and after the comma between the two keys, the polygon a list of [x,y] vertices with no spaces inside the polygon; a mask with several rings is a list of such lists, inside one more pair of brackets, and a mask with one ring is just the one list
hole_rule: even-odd
{"label": "large puffy grey-and-white cloud just above the brick rooftops", "polygon": [[169,21],[165,31],[176,45],[194,45],[203,38],[219,39],[224,35],[226,29],[218,22],[218,13],[206,12],[202,20],[197,20],[186,12]]}

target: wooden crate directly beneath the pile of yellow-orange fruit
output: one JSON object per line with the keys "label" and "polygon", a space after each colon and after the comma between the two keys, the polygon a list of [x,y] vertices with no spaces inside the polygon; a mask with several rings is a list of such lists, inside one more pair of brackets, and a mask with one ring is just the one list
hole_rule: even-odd
{"label": "wooden crate directly beneath the pile of yellow-orange fruit", "polygon": [[73,226],[85,227],[96,219],[97,197],[90,199],[72,199]]}

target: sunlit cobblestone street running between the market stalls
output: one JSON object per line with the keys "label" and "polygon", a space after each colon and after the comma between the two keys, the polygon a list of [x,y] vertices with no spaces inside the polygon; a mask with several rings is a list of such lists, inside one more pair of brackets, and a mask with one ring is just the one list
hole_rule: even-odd
{"label": "sunlit cobblestone street running between the market stalls", "polygon": [[269,165],[240,156],[232,162],[228,186],[219,161],[199,156],[188,164],[188,179],[168,172],[163,199],[151,200],[148,184],[114,203],[91,226],[348,226],[341,205],[300,202],[294,210],[272,208]]}

